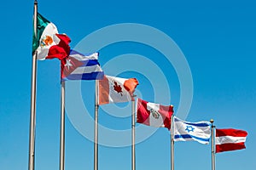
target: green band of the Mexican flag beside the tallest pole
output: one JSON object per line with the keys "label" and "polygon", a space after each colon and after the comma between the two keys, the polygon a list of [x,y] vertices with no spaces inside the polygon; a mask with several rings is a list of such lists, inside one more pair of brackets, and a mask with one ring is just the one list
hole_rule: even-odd
{"label": "green band of the Mexican flag beside the tallest pole", "polygon": [[32,52],[39,46],[39,40],[44,32],[45,27],[49,24],[49,20],[45,19],[41,14],[38,13],[38,23],[37,23],[37,37],[33,31],[33,40],[32,40]]}

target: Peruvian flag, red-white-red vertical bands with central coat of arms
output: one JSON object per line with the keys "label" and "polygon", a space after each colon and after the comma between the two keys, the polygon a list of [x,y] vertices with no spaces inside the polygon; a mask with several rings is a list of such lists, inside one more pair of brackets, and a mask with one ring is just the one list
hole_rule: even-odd
{"label": "Peruvian flag, red-white-red vertical bands with central coat of arms", "polygon": [[152,127],[171,128],[173,106],[165,106],[150,103],[143,99],[137,99],[137,122]]}

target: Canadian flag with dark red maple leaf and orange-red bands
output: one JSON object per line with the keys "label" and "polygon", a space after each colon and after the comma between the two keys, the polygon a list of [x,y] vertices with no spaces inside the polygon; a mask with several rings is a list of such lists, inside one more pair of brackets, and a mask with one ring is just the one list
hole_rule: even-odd
{"label": "Canadian flag with dark red maple leaf and orange-red bands", "polygon": [[134,100],[133,93],[137,85],[136,78],[104,76],[98,81],[98,105]]}

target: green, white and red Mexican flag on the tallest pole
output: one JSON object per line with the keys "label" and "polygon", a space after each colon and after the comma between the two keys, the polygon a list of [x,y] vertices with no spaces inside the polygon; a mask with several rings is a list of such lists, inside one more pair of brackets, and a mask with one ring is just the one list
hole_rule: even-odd
{"label": "green, white and red Mexican flag on the tallest pole", "polygon": [[37,35],[35,30],[32,40],[32,52],[38,53],[38,59],[64,59],[69,55],[70,38],[59,34],[56,26],[41,14],[37,18]]}

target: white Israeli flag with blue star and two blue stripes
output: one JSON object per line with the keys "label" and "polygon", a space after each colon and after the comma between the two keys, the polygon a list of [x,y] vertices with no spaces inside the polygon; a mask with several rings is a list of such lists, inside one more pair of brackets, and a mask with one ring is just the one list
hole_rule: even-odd
{"label": "white Israeli flag with blue star and two blue stripes", "polygon": [[211,137],[211,122],[184,122],[173,116],[174,141],[197,141],[209,144]]}

